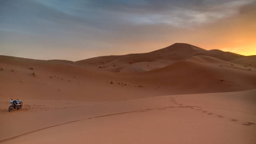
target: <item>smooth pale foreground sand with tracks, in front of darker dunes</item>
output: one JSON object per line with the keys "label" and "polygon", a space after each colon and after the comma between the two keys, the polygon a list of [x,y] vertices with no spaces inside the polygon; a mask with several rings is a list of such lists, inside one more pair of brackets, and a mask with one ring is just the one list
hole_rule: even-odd
{"label": "smooth pale foreground sand with tracks, in front of darker dunes", "polygon": [[33,100],[22,111],[1,112],[0,139],[6,144],[254,144],[255,95],[251,90],[39,104],[44,106],[33,106]]}

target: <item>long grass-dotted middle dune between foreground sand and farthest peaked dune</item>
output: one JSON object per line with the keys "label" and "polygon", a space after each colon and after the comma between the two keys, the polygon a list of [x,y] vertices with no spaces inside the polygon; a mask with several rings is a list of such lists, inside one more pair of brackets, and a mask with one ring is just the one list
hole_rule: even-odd
{"label": "long grass-dotted middle dune between foreground sand and farthest peaked dune", "polygon": [[[134,71],[140,68],[141,63],[138,63],[130,73],[105,72],[59,61],[1,58],[4,59],[1,60],[1,88],[5,90],[2,98],[36,95],[35,99],[45,100],[51,97],[55,100],[116,100],[256,88],[254,67],[248,70],[249,67],[207,56],[179,60],[165,67],[159,64],[162,68],[156,68],[158,63],[154,62],[154,65],[148,64],[152,70],[144,72]],[[31,67],[34,70],[30,70]]]}

